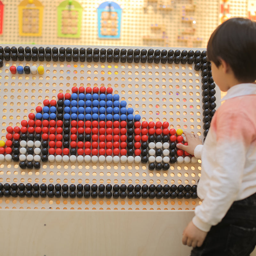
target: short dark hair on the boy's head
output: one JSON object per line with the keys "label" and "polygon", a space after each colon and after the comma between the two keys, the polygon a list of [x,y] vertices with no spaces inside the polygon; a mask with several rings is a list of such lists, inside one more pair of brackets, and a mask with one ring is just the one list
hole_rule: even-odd
{"label": "short dark hair on the boy's head", "polygon": [[207,45],[207,59],[220,66],[220,58],[232,68],[239,82],[256,80],[256,22],[231,18],[216,28]]}

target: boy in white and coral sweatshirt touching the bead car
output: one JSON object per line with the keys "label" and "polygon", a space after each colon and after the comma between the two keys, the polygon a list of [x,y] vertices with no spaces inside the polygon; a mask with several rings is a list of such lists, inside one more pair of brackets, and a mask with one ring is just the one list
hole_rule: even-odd
{"label": "boy in white and coral sweatshirt touching the bead car", "polygon": [[225,101],[215,112],[204,145],[184,132],[202,171],[202,204],[183,232],[191,256],[250,255],[256,245],[256,22],[232,18],[207,46],[212,76]]}

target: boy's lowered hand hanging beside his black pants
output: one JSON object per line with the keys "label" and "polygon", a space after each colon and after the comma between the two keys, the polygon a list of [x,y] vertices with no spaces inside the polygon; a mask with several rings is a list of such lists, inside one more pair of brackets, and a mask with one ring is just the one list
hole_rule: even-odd
{"label": "boy's lowered hand hanging beside his black pants", "polygon": [[192,221],[188,223],[187,228],[183,231],[182,243],[184,245],[200,247],[202,246],[207,232],[197,228]]}

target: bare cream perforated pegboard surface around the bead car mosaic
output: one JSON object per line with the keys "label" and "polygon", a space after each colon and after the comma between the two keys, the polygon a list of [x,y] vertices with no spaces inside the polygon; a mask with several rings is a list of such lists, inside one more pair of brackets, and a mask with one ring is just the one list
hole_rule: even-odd
{"label": "bare cream perforated pegboard surface around the bead car mosaic", "polygon": [[[105,48],[107,49],[108,46]],[[128,49],[128,47],[119,48]],[[44,67],[44,74],[12,75],[9,70],[12,65],[16,67],[40,65]],[[194,64],[4,61],[0,76],[2,140],[5,140],[8,125],[20,126],[21,120],[28,120],[28,114],[34,113],[36,106],[42,106],[44,99],[56,99],[59,92],[71,92],[73,86],[112,87],[113,94],[118,94],[120,100],[127,101],[127,107],[133,108],[134,114],[142,116],[141,121],[167,121],[170,124],[169,128],[182,128],[197,133],[202,139],[204,137],[202,76],[201,70],[194,69]],[[220,98],[218,90],[216,98]],[[172,164],[167,171],[150,171],[148,164],[142,163],[72,164],[70,162],[46,162],[42,163],[39,170],[22,170],[17,163],[4,162],[0,163],[0,182],[68,185],[79,183],[134,186],[136,184],[194,185],[200,178],[200,170],[200,160],[196,164]],[[189,210],[194,209],[198,203],[199,199],[184,198],[175,200],[48,197],[0,199],[1,208],[27,209],[51,207],[53,209]]]}

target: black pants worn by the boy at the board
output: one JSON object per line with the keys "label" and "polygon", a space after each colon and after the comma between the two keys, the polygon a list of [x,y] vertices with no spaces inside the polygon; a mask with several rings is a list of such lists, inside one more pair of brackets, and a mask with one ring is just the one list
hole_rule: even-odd
{"label": "black pants worn by the boy at the board", "polygon": [[190,256],[249,256],[256,245],[256,193],[235,201]]}

